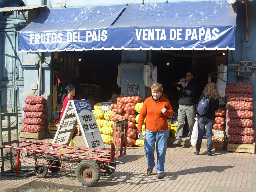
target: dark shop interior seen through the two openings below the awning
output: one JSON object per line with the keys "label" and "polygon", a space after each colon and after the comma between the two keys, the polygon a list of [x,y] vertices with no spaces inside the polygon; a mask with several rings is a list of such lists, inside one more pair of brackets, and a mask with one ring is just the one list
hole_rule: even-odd
{"label": "dark shop interior seen through the two openings below the awning", "polygon": [[[151,62],[157,66],[158,83],[163,84],[165,96],[168,96],[169,100],[177,100],[178,90],[176,87],[172,87],[171,83],[185,77],[186,71],[192,70],[197,83],[196,97],[199,98],[207,84],[209,74],[216,73],[217,67],[221,63],[226,64],[226,55],[223,56],[222,52],[215,50],[152,51]],[[67,52],[61,53],[67,55]],[[75,60],[73,62],[79,66],[79,82],[68,78],[68,74],[63,74],[65,81],[62,89],[66,86],[65,82],[66,84],[97,85],[100,87],[100,96],[96,102],[108,101],[113,93],[120,94],[121,88],[117,86],[116,81],[118,64],[121,62],[121,50],[76,51],[68,52],[68,54],[73,55]],[[60,58],[62,57],[59,56],[58,59],[60,60]],[[66,65],[68,65],[68,61]],[[63,70],[67,70],[67,68],[66,66]],[[75,72],[72,71],[72,73]],[[216,77],[212,76],[212,81],[216,82]]]}

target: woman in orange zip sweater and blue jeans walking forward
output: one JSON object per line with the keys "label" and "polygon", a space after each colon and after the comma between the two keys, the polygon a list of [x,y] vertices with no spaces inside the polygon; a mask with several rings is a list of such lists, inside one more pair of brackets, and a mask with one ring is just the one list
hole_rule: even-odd
{"label": "woman in orange zip sweater and blue jeans walking forward", "polygon": [[148,163],[147,175],[152,173],[153,167],[155,166],[154,151],[156,141],[156,173],[159,179],[163,178],[164,172],[169,133],[167,118],[173,115],[172,106],[168,99],[161,96],[162,92],[163,86],[161,84],[154,83],[151,86],[152,96],[144,101],[137,126],[137,132],[140,134],[142,124],[146,118],[144,149]]}

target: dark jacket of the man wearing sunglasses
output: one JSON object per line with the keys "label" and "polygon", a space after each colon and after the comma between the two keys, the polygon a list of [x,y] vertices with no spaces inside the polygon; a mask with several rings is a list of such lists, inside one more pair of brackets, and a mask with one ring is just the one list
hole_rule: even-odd
{"label": "dark jacket of the man wearing sunglasses", "polygon": [[[195,104],[196,103],[196,101],[195,101],[196,83],[193,81],[193,79],[184,88],[181,84],[178,85],[177,83],[178,83],[178,81],[173,81],[172,86],[180,88],[179,102],[178,103],[180,105],[193,105],[193,104]],[[185,91],[183,91],[183,90],[185,90]]]}

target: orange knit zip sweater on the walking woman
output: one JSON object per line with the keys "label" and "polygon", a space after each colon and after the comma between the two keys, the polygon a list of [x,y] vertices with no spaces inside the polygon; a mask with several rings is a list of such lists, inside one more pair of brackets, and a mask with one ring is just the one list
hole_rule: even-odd
{"label": "orange knit zip sweater on the walking woman", "polygon": [[[161,113],[164,106],[167,106],[167,112]],[[155,102],[153,97],[148,97],[140,110],[137,129],[141,131],[142,124],[146,118],[145,128],[149,131],[164,131],[168,129],[167,118],[172,117],[173,110],[168,99],[161,96],[160,100]]]}

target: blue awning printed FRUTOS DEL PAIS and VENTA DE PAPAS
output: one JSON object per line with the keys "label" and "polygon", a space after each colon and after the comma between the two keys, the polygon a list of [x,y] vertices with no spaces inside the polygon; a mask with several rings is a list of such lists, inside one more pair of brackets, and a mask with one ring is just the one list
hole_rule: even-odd
{"label": "blue awning printed FRUTOS DEL PAIS and VENTA DE PAPAS", "polygon": [[236,7],[227,1],[130,4],[123,9],[46,10],[19,32],[18,49],[235,49]]}

